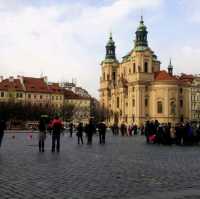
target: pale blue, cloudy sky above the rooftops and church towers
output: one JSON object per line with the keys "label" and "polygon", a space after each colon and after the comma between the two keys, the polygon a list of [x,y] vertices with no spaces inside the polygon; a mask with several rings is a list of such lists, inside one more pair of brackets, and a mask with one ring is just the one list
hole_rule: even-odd
{"label": "pale blue, cloudy sky above the rooftops and church towers", "polygon": [[133,48],[141,14],[150,48],[166,69],[198,74],[199,0],[0,0],[0,75],[76,79],[98,97],[113,33],[118,60]]}

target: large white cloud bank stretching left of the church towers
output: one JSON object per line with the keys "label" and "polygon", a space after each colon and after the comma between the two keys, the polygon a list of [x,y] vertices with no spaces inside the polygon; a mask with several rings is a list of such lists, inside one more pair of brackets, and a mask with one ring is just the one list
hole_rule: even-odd
{"label": "large white cloud bank stretching left of the church towers", "polygon": [[43,72],[53,81],[77,78],[98,96],[99,63],[108,32],[123,35],[118,39],[123,43],[124,33],[135,24],[130,15],[160,4],[161,0],[115,0],[100,6],[80,2],[35,6],[31,1],[1,0],[1,73]]}

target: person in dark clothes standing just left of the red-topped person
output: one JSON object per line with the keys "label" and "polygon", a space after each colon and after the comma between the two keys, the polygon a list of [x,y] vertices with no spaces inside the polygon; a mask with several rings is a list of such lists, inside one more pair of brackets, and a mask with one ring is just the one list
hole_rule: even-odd
{"label": "person in dark clothes standing just left of the red-topped person", "polygon": [[44,152],[44,141],[46,138],[46,125],[44,118],[40,118],[39,122],[39,152]]}

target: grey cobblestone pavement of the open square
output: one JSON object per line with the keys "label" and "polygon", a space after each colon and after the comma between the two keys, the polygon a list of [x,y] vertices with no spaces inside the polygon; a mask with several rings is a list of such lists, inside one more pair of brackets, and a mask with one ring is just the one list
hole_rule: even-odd
{"label": "grey cobblestone pavement of the open square", "polygon": [[199,199],[200,146],[147,145],[141,136],[96,136],[92,146],[51,138],[39,153],[37,135],[7,134],[0,149],[0,199]]}

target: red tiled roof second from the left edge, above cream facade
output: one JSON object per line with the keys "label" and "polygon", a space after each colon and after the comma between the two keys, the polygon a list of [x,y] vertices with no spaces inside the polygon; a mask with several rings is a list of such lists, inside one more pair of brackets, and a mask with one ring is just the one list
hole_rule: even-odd
{"label": "red tiled roof second from the left edge, above cream facade", "polygon": [[27,92],[49,93],[43,78],[23,77],[23,83]]}

